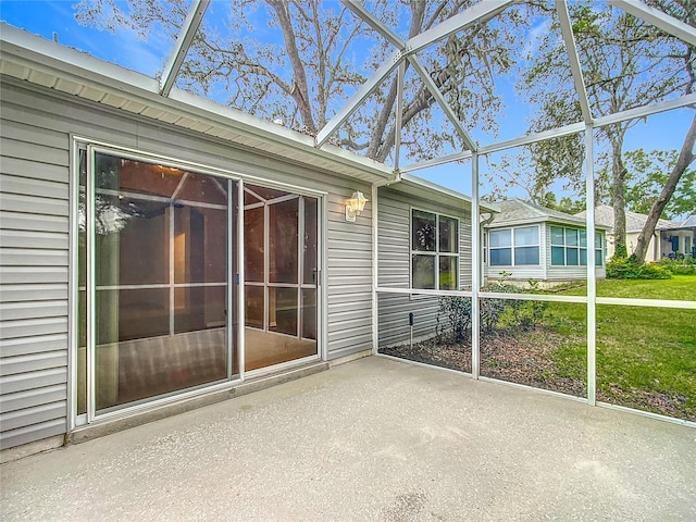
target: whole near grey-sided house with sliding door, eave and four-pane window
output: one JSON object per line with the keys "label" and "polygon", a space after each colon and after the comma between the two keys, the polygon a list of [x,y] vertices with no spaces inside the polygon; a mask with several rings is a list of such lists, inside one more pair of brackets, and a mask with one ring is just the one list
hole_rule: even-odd
{"label": "whole near grey-sided house with sliding door, eave and four-pane window", "polygon": [[411,312],[432,325],[436,297],[377,310],[377,277],[470,284],[468,198],[22,30],[0,38],[1,448],[372,353],[377,315],[391,339]]}

